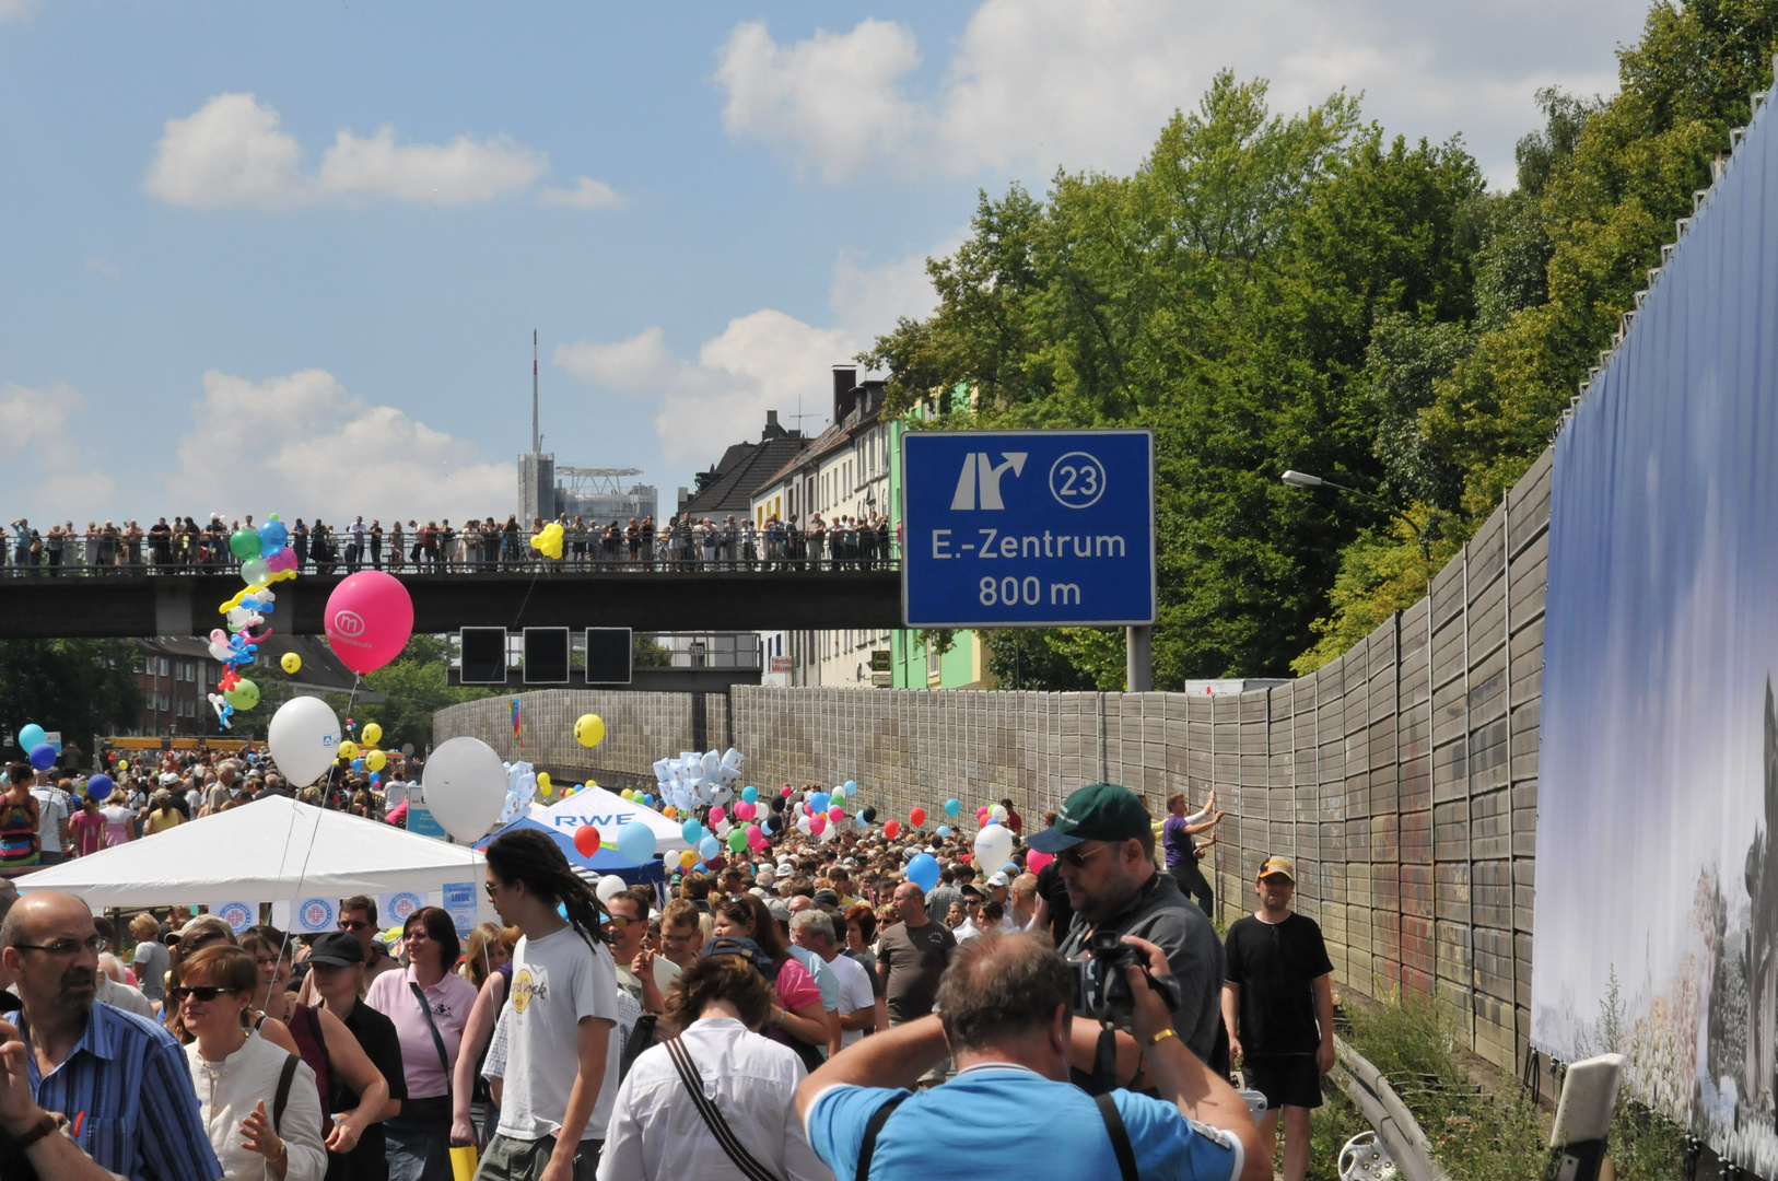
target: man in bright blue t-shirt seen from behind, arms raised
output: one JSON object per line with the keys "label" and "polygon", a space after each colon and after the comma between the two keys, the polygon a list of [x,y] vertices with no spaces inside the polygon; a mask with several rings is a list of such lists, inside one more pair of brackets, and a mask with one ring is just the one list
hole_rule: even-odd
{"label": "man in bright blue t-shirt seen from behind, arms raised", "polygon": [[[1008,1144],[1019,1145],[1021,1181],[1269,1179],[1246,1105],[1186,1049],[1147,984],[1166,957],[1143,939],[1124,943],[1145,964],[1125,975],[1133,1033],[1161,1099],[1117,1090],[1101,1106],[1069,1083],[1072,969],[1038,936],[983,936],[957,950],[935,1016],[866,1037],[804,1080],[797,1110],[809,1145],[837,1181],[928,1181],[933,1161],[987,1176],[1005,1169]],[[957,1078],[910,1094],[946,1055]]]}

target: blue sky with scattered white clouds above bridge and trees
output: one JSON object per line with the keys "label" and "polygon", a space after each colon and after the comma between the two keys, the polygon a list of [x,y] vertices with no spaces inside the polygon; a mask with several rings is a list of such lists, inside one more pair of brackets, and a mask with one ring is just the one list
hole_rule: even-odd
{"label": "blue sky with scattered white clouds above bridge and trees", "polygon": [[503,516],[532,329],[546,450],[670,502],[1216,68],[1506,181],[1645,11],[1237,7],[0,0],[0,514]]}

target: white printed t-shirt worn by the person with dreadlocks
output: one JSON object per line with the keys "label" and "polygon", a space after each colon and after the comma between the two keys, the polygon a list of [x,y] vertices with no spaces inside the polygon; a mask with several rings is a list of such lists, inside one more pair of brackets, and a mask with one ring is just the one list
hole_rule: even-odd
{"label": "white printed t-shirt worn by the person with dreadlocks", "polygon": [[617,1096],[617,966],[603,943],[587,946],[573,927],[542,939],[523,937],[512,950],[512,1000],[507,1003],[505,1090],[500,1133],[542,1140],[562,1129],[567,1099],[580,1071],[576,1048],[581,1017],[612,1023],[605,1048],[605,1081],[581,1140],[599,1140],[612,1122]]}

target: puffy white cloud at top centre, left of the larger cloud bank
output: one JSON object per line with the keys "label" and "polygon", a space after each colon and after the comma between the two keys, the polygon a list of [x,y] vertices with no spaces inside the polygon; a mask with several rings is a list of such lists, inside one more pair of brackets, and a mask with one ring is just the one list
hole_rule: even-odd
{"label": "puffy white cloud at top centre, left of the larger cloud bank", "polygon": [[724,128],[763,139],[827,180],[900,155],[917,130],[900,80],[919,64],[919,50],[893,21],[816,30],[789,46],[777,44],[765,21],[747,21],[717,57],[717,84],[729,94]]}

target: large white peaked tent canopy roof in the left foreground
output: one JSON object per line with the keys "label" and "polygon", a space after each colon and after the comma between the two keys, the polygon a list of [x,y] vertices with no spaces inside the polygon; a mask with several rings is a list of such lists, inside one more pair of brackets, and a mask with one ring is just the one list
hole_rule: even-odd
{"label": "large white peaked tent canopy roof in the left foreground", "polygon": [[116,848],[14,879],[92,909],[441,891],[475,882],[482,854],[350,813],[283,797],[254,800]]}

